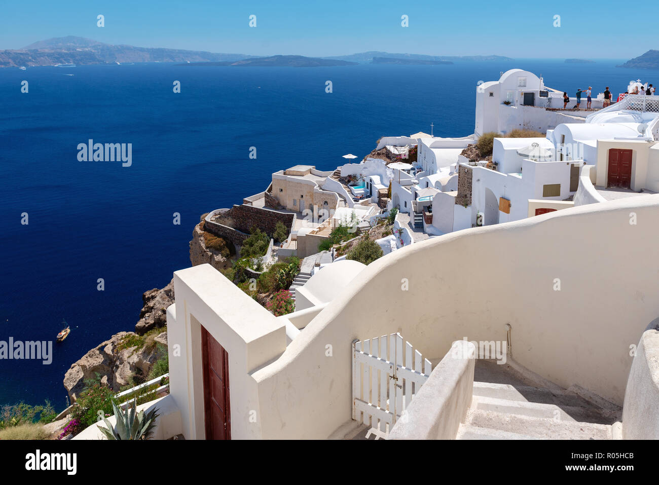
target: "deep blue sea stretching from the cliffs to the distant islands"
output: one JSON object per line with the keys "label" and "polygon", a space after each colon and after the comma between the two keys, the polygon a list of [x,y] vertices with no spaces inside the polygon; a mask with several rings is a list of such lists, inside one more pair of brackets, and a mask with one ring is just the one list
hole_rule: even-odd
{"label": "deep blue sea stretching from the cliffs to the distant islands", "polygon": [[[200,215],[264,190],[273,172],[334,169],[381,136],[430,132],[430,123],[438,136],[471,134],[476,83],[515,67],[570,96],[659,83],[659,71],[615,68],[621,61],[0,69],[0,340],[54,340],[63,318],[72,329],[53,342],[49,365],[0,360],[0,405],[49,399],[63,409],[71,364],[132,330],[142,293],[190,266]],[[131,143],[132,165],[78,161],[90,138]]]}

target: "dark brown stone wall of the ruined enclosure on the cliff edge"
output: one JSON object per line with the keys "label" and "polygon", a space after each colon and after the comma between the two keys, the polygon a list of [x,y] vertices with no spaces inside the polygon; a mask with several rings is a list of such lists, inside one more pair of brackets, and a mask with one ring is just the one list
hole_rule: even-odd
{"label": "dark brown stone wall of the ruined enclosure on the cliff edge", "polygon": [[295,214],[278,212],[253,206],[233,206],[223,212],[215,221],[206,222],[205,229],[215,236],[222,237],[239,246],[249,236],[252,227],[258,227],[272,237],[277,222],[283,223],[286,230],[291,231]]}

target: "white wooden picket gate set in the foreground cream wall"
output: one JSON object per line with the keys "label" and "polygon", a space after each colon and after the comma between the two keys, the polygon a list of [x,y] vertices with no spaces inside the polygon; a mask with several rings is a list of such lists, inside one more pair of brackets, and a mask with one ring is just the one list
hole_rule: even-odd
{"label": "white wooden picket gate set in the foreground cream wall", "polygon": [[370,426],[366,438],[386,438],[431,370],[407,341],[403,355],[400,333],[353,342],[353,419]]}

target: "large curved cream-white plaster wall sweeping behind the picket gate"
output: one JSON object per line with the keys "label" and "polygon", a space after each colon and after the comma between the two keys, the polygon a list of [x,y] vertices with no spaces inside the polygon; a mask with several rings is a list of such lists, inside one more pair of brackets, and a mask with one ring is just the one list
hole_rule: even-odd
{"label": "large curved cream-white plaster wall sweeping behind the picket gate", "polygon": [[[267,413],[262,437],[326,438],[350,420],[351,341],[397,331],[434,358],[463,337],[505,341],[510,324],[517,362],[621,404],[629,345],[659,314],[658,214],[659,195],[638,196],[467,229],[380,258],[252,374]],[[490,257],[483,248],[507,250]]]}

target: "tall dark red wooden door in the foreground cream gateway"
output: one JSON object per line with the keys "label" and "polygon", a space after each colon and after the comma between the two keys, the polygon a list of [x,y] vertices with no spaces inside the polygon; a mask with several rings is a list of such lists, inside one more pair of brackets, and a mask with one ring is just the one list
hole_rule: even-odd
{"label": "tall dark red wooden door in the foreground cream gateway", "polygon": [[229,354],[202,327],[206,440],[231,440]]}

